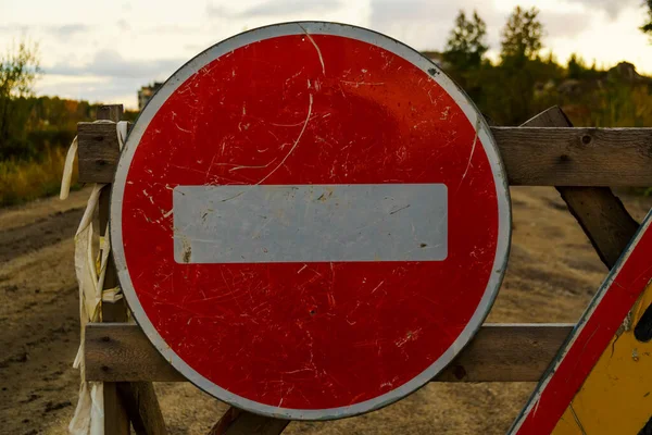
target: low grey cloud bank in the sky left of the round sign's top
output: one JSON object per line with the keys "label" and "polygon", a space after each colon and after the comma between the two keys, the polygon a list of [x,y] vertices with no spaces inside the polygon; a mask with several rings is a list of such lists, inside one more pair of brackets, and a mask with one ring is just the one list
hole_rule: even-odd
{"label": "low grey cloud bank in the sky left of the round sign's top", "polygon": [[47,73],[64,76],[99,76],[115,78],[138,78],[151,80],[162,75],[172,75],[185,63],[178,59],[159,59],[148,61],[125,60],[115,50],[104,49],[98,51],[92,61],[80,66],[73,66],[65,62],[48,67]]}

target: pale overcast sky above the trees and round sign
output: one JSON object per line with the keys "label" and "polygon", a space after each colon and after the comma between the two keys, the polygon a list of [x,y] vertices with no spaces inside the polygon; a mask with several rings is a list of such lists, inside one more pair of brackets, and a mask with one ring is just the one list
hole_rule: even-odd
{"label": "pale overcast sky above the trees and round sign", "polygon": [[638,27],[642,0],[0,0],[0,51],[22,36],[40,44],[39,95],[136,107],[136,91],[163,80],[205,48],[265,24],[294,20],[355,24],[418,50],[441,50],[460,9],[477,9],[492,52],[516,4],[536,5],[544,45],[611,66],[652,74],[652,46]]}

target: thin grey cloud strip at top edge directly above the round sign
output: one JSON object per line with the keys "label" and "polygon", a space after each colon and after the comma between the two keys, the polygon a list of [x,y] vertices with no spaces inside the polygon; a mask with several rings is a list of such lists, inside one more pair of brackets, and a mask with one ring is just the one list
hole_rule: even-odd
{"label": "thin grey cloud strip at top edge directly above the round sign", "polygon": [[233,11],[223,5],[209,3],[206,12],[211,17],[250,18],[261,16],[283,16],[305,12],[330,12],[341,5],[342,3],[339,0],[267,0],[242,11]]}

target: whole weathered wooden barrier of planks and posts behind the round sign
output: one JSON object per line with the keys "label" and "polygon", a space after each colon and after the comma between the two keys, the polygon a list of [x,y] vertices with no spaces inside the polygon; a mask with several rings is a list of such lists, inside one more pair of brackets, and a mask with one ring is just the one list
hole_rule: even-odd
{"label": "whole weathered wooden barrier of planks and posts behind the round sign", "polygon": [[[111,109],[115,107],[108,108],[102,110],[117,113]],[[652,128],[573,128],[559,108],[551,108],[522,127],[491,129],[510,184],[556,186],[603,263],[612,268],[638,223],[604,186],[652,186]],[[79,123],[78,140],[79,182],[112,183],[120,157],[115,126]],[[108,199],[103,200],[100,213],[105,222]],[[104,322],[126,319],[124,307],[108,307],[104,312]],[[539,381],[572,328],[560,324],[485,325],[434,381]],[[151,382],[186,380],[137,325],[87,325],[85,359],[86,380],[109,386],[106,435],[128,433],[129,420],[138,434],[165,433]],[[287,424],[231,408],[210,433],[276,435]]]}

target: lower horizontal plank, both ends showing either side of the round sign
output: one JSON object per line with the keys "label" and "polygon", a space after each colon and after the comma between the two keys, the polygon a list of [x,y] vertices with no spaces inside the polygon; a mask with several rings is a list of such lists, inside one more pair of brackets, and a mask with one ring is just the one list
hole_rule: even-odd
{"label": "lower horizontal plank, both ends showing either side of the round sign", "polygon": [[[573,325],[485,325],[438,382],[536,382]],[[184,382],[139,326],[86,326],[86,380]]]}

